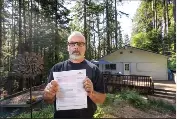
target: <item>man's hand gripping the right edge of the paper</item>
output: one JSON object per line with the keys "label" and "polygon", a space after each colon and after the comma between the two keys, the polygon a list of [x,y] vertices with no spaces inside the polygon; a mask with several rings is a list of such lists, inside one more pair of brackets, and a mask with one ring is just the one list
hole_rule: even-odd
{"label": "man's hand gripping the right edge of the paper", "polygon": [[84,80],[84,88],[85,91],[87,91],[88,96],[93,94],[93,83],[88,77],[86,77],[86,79]]}

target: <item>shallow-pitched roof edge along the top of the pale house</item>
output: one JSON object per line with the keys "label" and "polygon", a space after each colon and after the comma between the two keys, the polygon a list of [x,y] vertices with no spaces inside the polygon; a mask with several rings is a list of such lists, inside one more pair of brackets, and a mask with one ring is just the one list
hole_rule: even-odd
{"label": "shallow-pitched roof edge along the top of the pale house", "polygon": [[[142,51],[154,53],[154,54],[157,54],[157,55],[161,55],[161,56],[164,56],[164,57],[168,57],[167,55],[162,55],[162,54],[160,54],[160,53],[153,52],[153,51],[151,51],[151,50],[145,50],[145,49],[141,49],[141,48],[136,48],[136,47],[133,47],[133,46],[130,46],[130,45],[125,45],[125,46],[123,46],[123,47],[117,49],[117,50],[114,51],[114,52],[117,52],[118,50],[121,50],[121,49],[128,49],[128,48],[138,49],[138,50],[142,50]],[[112,53],[114,53],[114,52],[112,52]],[[102,59],[102,58],[104,58],[104,57],[106,57],[106,56],[108,56],[108,55],[110,55],[110,54],[112,54],[112,53],[109,53],[109,54],[107,54],[107,55],[101,57],[100,59]]]}

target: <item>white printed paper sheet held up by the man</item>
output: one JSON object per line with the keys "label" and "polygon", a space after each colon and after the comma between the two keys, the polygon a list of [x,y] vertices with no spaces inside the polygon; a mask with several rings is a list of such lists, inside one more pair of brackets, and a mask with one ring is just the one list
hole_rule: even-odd
{"label": "white printed paper sheet held up by the man", "polygon": [[60,86],[56,94],[56,110],[87,108],[87,92],[83,87],[86,69],[53,72]]}

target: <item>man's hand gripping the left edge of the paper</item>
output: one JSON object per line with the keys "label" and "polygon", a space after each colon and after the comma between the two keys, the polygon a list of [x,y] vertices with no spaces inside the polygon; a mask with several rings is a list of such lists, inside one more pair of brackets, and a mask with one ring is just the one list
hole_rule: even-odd
{"label": "man's hand gripping the left edge of the paper", "polygon": [[44,100],[48,103],[53,103],[56,93],[59,91],[57,81],[52,80],[44,89]]}

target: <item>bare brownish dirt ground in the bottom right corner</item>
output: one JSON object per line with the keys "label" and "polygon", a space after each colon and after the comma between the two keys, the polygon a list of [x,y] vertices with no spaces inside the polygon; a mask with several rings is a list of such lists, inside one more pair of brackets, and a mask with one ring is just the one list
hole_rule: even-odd
{"label": "bare brownish dirt ground in the bottom right corner", "polygon": [[103,108],[104,118],[176,118],[172,112],[158,112],[153,109],[143,111],[132,107],[126,103],[120,103],[115,106],[106,106]]}

